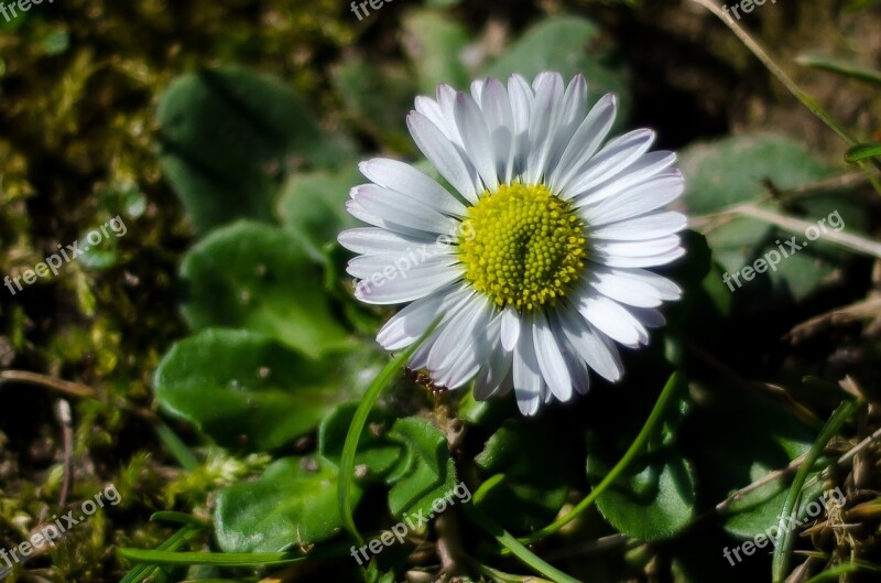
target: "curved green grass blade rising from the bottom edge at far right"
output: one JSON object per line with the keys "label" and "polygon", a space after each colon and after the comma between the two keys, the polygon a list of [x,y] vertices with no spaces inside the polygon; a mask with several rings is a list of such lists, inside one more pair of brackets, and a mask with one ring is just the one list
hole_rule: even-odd
{"label": "curved green grass blade rising from the bottom edge at far right", "polygon": [[798,505],[802,499],[802,488],[811,473],[814,463],[823,455],[826,444],[829,443],[838,431],[844,425],[845,421],[850,419],[863,406],[862,400],[846,401],[838,406],[838,409],[833,412],[829,420],[823,427],[816,441],[811,445],[807,451],[805,461],[795,474],[790,492],[786,495],[786,500],[783,504],[783,510],[780,514],[780,521],[777,522],[777,536],[780,537],[779,544],[774,548],[774,557],[771,562],[771,580],[773,583],[782,583],[786,579],[790,568],[790,554],[795,544],[794,530],[788,529],[788,525],[794,523],[798,514]]}

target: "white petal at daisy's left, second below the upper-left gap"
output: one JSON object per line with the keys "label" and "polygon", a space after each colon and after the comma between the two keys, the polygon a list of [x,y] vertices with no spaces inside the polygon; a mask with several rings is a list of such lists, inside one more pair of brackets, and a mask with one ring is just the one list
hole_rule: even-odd
{"label": "white petal at daisy's left, second below the upper-left gap", "polygon": [[398,225],[438,235],[454,234],[459,226],[458,220],[444,216],[399,192],[376,184],[356,186],[351,190],[350,196],[368,213]]}

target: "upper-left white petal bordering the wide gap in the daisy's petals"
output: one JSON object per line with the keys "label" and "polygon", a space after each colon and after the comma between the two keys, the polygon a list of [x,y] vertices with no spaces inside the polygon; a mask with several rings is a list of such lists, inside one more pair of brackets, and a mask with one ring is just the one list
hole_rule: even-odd
{"label": "upper-left white petal bordering the wide gap in the daisy's petals", "polygon": [[456,145],[437,126],[417,111],[407,116],[406,125],[413,141],[437,172],[466,199],[477,203],[477,171],[470,162],[463,159]]}

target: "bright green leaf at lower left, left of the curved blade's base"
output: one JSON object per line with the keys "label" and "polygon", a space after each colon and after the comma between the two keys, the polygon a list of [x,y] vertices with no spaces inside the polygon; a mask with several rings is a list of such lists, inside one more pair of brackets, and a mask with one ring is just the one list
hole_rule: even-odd
{"label": "bright green leaf at lower left, left of the curved blade's base", "polygon": [[[360,498],[358,489],[352,495]],[[214,520],[225,552],[280,552],[327,540],[342,529],[337,469],[320,458],[279,460],[260,479],[218,492]]]}

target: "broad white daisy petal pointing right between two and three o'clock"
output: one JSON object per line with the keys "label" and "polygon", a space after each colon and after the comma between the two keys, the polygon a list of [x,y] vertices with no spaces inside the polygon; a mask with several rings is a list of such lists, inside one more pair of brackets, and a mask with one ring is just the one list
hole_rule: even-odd
{"label": "broad white daisy petal pointing right between two and three o'clock", "polygon": [[675,201],[685,188],[682,172],[667,169],[652,180],[634,186],[619,196],[581,208],[581,216],[591,227],[617,223],[644,215]]}

